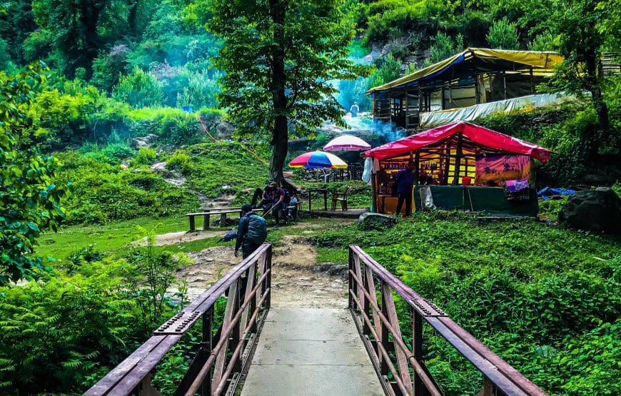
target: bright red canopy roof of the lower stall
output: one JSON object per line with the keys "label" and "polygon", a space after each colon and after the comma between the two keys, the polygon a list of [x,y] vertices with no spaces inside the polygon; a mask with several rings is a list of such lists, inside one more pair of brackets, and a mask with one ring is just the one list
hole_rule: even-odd
{"label": "bright red canopy roof of the lower stall", "polygon": [[[440,143],[446,143],[457,134],[462,140],[463,150],[472,148],[476,153],[522,154],[542,163],[546,163],[550,158],[550,151],[536,144],[465,121],[439,126],[398,141],[386,143],[367,151],[365,155],[378,160],[403,156],[420,148],[440,146]],[[451,142],[451,146],[457,148],[459,139],[453,140],[455,142]]]}

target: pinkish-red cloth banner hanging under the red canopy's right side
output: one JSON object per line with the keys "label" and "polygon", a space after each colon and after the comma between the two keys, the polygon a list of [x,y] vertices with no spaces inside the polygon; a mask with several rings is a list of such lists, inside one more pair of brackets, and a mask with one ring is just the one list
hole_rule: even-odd
{"label": "pinkish-red cloth banner hanging under the red canopy's right side", "polygon": [[529,156],[478,156],[476,158],[477,186],[500,186],[506,180],[530,181]]}

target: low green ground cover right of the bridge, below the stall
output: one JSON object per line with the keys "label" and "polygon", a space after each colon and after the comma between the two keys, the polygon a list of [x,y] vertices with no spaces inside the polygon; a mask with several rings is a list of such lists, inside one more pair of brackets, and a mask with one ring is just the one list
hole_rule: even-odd
{"label": "low green ground cover right of the bridge, below the stall", "polygon": [[[479,225],[439,211],[380,233],[351,225],[313,240],[341,260],[343,246],[360,245],[551,394],[618,392],[610,377],[621,337],[618,238],[534,221]],[[400,299],[397,306],[408,342],[409,307]],[[428,330],[425,361],[445,393],[478,392],[475,368]]]}

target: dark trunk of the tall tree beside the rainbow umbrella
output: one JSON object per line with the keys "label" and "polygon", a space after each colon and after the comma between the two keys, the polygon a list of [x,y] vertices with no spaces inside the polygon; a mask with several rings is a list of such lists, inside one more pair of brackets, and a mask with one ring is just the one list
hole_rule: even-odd
{"label": "dark trunk of the tall tree beside the rainbow umbrella", "polygon": [[270,176],[274,181],[283,179],[283,168],[288,150],[287,96],[285,94],[285,4],[270,0],[270,16],[274,25],[274,50],[271,59],[271,91],[275,114],[272,132],[273,146]]}

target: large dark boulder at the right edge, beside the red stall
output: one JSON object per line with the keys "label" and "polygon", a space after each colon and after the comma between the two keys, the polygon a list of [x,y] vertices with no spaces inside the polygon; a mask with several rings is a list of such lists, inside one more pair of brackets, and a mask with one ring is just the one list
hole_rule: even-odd
{"label": "large dark boulder at the right edge, beside the red stall", "polygon": [[621,233],[621,200],[612,188],[600,187],[570,196],[558,214],[571,228]]}

